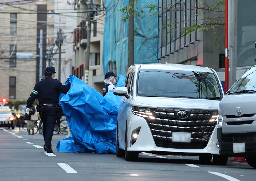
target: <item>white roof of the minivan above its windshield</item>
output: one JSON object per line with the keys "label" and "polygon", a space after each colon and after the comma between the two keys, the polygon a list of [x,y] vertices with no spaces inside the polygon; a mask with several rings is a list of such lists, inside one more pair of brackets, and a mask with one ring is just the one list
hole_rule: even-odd
{"label": "white roof of the minivan above its windshield", "polygon": [[198,72],[213,72],[208,67],[185,65],[185,64],[140,64],[141,70],[187,70],[187,71],[198,71]]}

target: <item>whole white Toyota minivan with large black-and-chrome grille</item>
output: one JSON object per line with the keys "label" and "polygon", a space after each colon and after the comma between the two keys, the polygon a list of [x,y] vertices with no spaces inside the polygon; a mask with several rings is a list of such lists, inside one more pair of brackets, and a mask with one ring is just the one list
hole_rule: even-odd
{"label": "whole white Toyota minivan with large black-and-chrome grille", "polygon": [[127,161],[138,153],[198,155],[225,165],[217,140],[218,105],[223,90],[216,72],[181,64],[129,67],[117,117],[116,156]]}

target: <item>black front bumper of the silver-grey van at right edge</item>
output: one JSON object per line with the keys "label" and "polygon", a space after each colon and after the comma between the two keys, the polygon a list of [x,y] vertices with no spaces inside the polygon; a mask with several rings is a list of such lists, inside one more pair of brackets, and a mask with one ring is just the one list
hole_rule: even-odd
{"label": "black front bumper of the silver-grey van at right edge", "polygon": [[[256,154],[256,132],[251,133],[229,133],[223,134],[222,128],[217,128],[219,140],[219,153],[229,156],[255,156]],[[245,143],[245,153],[234,153],[233,143]]]}

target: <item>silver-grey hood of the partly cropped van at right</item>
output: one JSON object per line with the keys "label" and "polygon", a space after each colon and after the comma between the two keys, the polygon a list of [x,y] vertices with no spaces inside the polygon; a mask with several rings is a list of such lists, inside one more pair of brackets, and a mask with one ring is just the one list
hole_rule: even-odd
{"label": "silver-grey hood of the partly cropped van at right", "polygon": [[241,115],[255,114],[255,102],[255,93],[225,95],[219,104],[219,112],[223,116],[236,115],[237,110],[241,111]]}

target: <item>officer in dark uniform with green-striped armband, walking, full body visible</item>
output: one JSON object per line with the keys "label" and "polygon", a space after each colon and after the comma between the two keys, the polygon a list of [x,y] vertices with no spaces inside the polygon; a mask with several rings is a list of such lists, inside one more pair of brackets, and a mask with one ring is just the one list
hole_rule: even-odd
{"label": "officer in dark uniform with green-striped armband, walking, full body visible", "polygon": [[53,153],[52,150],[52,137],[54,126],[57,120],[57,104],[59,103],[60,93],[66,94],[70,89],[69,84],[62,85],[55,77],[54,67],[47,67],[45,69],[45,79],[37,82],[32,90],[30,97],[27,100],[26,113],[32,107],[35,99],[38,99],[39,114],[43,122],[43,135],[44,135],[44,150],[47,153]]}

